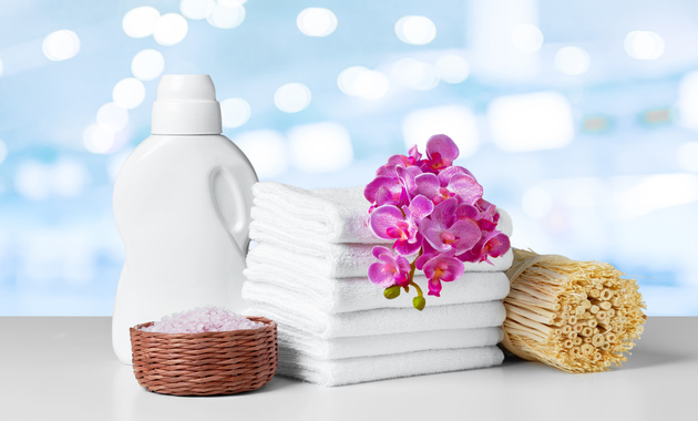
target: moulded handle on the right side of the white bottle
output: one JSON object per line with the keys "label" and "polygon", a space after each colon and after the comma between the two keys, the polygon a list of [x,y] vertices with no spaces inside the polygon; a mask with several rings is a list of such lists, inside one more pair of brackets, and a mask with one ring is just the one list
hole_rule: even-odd
{"label": "moulded handle on the right side of the white bottle", "polygon": [[211,173],[211,188],[218,220],[230,234],[243,256],[249,246],[249,222],[253,205],[252,185],[247,176],[234,176],[229,168],[219,166]]}

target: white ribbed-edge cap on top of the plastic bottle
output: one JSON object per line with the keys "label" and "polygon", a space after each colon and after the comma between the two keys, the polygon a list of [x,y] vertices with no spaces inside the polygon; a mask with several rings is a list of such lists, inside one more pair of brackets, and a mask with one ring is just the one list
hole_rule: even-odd
{"label": "white ribbed-edge cap on top of the plastic bottle", "polygon": [[165,74],[153,103],[153,134],[220,134],[220,104],[208,74]]}

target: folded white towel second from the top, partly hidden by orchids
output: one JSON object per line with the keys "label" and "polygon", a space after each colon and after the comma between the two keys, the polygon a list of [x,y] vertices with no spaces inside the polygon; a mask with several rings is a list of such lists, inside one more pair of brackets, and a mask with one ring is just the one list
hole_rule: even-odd
{"label": "folded white towel second from the top, partly hidden by orchids", "polygon": [[[247,267],[264,268],[275,263],[287,273],[299,276],[324,276],[328,278],[365,277],[371,264],[378,261],[371,250],[373,244],[335,244],[327,257],[316,257],[292,251],[292,246],[284,247],[260,243],[247,254]],[[503,256],[486,261],[465,263],[465,271],[504,271],[512,266],[514,253],[510,249]]]}

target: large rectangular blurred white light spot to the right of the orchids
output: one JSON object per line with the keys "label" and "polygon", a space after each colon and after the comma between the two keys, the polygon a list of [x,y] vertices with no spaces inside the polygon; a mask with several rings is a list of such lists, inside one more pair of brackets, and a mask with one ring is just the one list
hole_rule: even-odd
{"label": "large rectangular blurred white light spot to the right of the orchids", "polygon": [[500,96],[487,120],[492,141],[505,152],[564,147],[574,135],[569,102],[555,92]]}

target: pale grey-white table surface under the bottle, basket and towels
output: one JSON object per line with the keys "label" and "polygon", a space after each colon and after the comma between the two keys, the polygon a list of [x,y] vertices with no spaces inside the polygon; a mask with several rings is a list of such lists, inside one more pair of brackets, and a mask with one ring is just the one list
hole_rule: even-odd
{"label": "pale grey-white table surface under the bottle, basket and towels", "polygon": [[0,420],[698,420],[698,318],[649,318],[623,368],[503,366],[324,388],[275,377],[228,397],[142,389],[109,317],[0,317]]}

